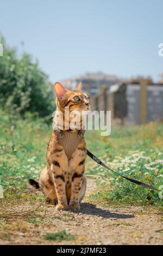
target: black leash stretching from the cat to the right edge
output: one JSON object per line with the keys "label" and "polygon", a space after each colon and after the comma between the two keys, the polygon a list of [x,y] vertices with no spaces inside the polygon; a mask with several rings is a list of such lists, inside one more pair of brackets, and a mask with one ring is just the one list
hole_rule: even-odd
{"label": "black leash stretching from the cat to the right edge", "polygon": [[159,189],[154,188],[154,187],[152,187],[152,186],[150,186],[150,185],[148,185],[148,184],[145,184],[145,183],[143,183],[143,182],[141,182],[141,181],[136,181],[136,180],[133,180],[133,178],[128,178],[128,177],[125,177],[125,176],[123,176],[123,175],[121,175],[121,174],[118,174],[117,172],[115,172],[114,170],[112,170],[111,168],[109,168],[108,166],[106,166],[106,165],[105,165],[101,160],[99,160],[97,157],[95,157],[94,154],[92,154],[89,150],[87,150],[87,155],[88,155],[90,158],[92,158],[97,164],[102,165],[102,166],[103,166],[104,168],[106,168],[107,170],[114,172],[116,175],[121,176],[122,178],[126,178],[126,180],[128,180],[128,181],[130,181],[130,182],[133,182],[133,183],[135,183],[135,184],[137,184],[137,185],[139,185],[139,186],[142,186],[142,187],[144,187],[144,188],[149,188],[149,189],[152,189],[152,190],[155,190],[155,191],[160,191]]}

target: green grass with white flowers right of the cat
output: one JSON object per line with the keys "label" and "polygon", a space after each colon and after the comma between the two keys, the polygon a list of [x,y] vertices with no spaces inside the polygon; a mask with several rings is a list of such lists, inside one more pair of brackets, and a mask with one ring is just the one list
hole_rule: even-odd
{"label": "green grass with white flowers right of the cat", "polygon": [[[100,132],[92,132],[91,136],[91,141],[94,138],[94,142],[91,145],[88,136],[87,148],[113,170],[155,187],[163,185],[162,123],[112,127],[109,137],[101,137]],[[120,207],[123,204],[162,205],[157,192],[136,186],[100,165],[93,165],[90,173],[97,176],[99,186],[98,192],[91,195],[91,199],[96,199],[99,203]]]}

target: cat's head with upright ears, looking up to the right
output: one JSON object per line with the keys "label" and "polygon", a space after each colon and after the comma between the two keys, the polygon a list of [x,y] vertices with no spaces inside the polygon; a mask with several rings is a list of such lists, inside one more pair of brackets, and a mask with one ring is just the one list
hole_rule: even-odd
{"label": "cat's head with upright ears, looking up to the right", "polygon": [[81,82],[74,91],[67,90],[59,82],[55,82],[54,91],[57,96],[56,104],[59,110],[64,111],[65,107],[69,107],[70,112],[90,110],[90,102],[86,93],[82,92]]}

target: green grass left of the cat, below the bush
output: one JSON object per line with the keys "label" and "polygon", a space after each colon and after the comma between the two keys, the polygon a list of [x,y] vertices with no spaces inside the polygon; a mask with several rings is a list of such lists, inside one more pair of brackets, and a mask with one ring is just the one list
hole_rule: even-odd
{"label": "green grass left of the cat, below the bush", "polygon": [[[4,189],[17,192],[17,189],[26,188],[28,178],[37,180],[45,166],[51,127],[38,118],[15,120],[1,111],[0,115],[0,181]],[[13,125],[14,141],[11,133]]]}

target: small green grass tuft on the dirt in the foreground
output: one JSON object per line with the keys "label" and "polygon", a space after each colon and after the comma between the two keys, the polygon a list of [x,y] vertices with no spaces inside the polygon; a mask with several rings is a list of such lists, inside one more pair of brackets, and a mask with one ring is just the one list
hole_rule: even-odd
{"label": "small green grass tuft on the dirt in the foreground", "polygon": [[57,233],[47,233],[45,236],[43,236],[44,240],[53,240],[53,241],[70,241],[70,240],[75,240],[76,236],[67,233],[66,230],[57,232]]}

